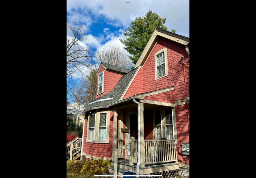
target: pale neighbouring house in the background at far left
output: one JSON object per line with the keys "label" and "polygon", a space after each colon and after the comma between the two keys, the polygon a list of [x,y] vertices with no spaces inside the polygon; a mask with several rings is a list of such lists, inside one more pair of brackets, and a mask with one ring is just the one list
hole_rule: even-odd
{"label": "pale neighbouring house in the background at far left", "polygon": [[[75,123],[77,126],[83,126],[84,116],[85,114],[83,110],[67,109],[67,117],[72,119],[73,123]],[[70,122],[67,123],[67,125],[70,125]]]}

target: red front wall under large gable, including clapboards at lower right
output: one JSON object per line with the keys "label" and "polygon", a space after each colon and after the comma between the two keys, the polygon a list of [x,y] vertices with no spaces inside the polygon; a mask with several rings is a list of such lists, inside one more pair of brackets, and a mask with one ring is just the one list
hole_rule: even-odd
{"label": "red front wall under large gable, including clapboards at lower right", "polygon": [[[168,76],[155,80],[155,53],[159,50],[167,47],[167,62],[168,62]],[[174,86],[173,91],[168,91],[156,95],[147,96],[145,100],[153,100],[160,102],[173,103],[175,100],[181,100],[189,95],[189,61],[187,60],[184,65],[180,64],[181,56],[184,58],[188,57],[185,46],[169,41],[164,38],[160,38],[146,63],[139,70],[133,83],[130,85],[124,98],[134,96],[140,93],[146,93],[150,91],[156,91],[167,87]],[[186,79],[186,93],[185,93],[185,82],[184,82],[184,71]],[[180,105],[175,107],[176,110],[176,125],[177,125],[177,152],[178,148],[182,143],[189,142],[189,131],[188,131],[188,120],[187,120],[187,108],[186,105]],[[188,104],[189,112],[189,104]],[[144,117],[145,121],[146,117]],[[147,120],[147,119],[146,119]],[[145,133],[147,132],[147,125],[145,123]],[[149,129],[148,129],[149,132]],[[144,134],[145,134],[144,133]],[[145,137],[148,139],[148,137]],[[153,139],[153,137],[152,137]],[[181,149],[180,149],[181,150]],[[181,154],[182,151],[178,152],[179,162],[189,163],[189,158]]]}

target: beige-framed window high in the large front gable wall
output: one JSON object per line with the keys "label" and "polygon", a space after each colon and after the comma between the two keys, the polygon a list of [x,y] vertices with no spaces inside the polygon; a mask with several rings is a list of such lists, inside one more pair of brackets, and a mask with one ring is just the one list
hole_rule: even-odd
{"label": "beige-framed window high in the large front gable wall", "polygon": [[155,80],[167,75],[167,48],[163,48],[155,54]]}

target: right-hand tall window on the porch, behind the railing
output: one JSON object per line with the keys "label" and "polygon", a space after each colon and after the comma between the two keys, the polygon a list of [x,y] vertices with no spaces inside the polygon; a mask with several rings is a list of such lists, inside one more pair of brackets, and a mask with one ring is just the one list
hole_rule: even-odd
{"label": "right-hand tall window on the porch, behind the railing", "polygon": [[174,139],[172,108],[165,108],[165,138]]}

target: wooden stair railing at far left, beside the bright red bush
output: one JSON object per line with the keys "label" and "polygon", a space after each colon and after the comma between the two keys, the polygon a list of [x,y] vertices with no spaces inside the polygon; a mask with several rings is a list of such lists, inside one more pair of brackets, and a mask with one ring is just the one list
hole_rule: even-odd
{"label": "wooden stair railing at far left, beside the bright red bush", "polygon": [[76,137],[67,143],[67,159],[73,160],[81,156],[82,138]]}

